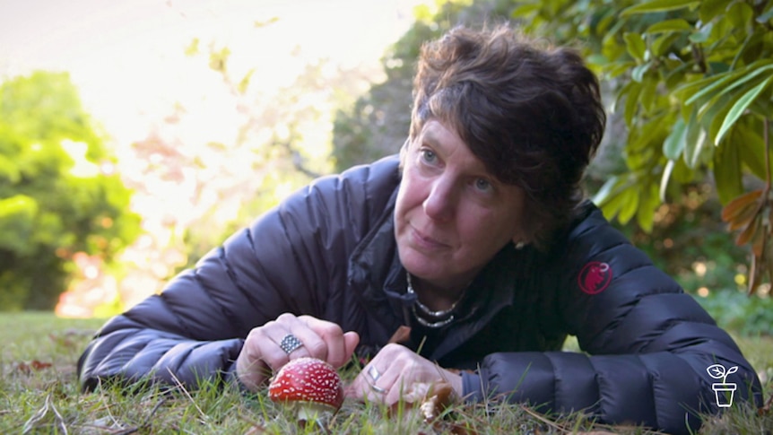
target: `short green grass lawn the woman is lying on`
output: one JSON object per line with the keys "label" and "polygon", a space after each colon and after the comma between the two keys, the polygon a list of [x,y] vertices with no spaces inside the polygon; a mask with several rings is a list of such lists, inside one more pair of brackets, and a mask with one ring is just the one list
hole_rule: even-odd
{"label": "short green grass lawn the woman is lying on", "polygon": [[[242,396],[230,389],[149,388],[126,394],[118,387],[79,391],[75,363],[102,319],[61,319],[48,313],[0,314],[0,433],[155,434],[155,433],[647,433],[639,428],[609,428],[581,415],[547,419],[520,405],[455,406],[433,422],[419,409],[394,410],[346,402],[323,427],[300,424],[269,401],[265,391]],[[738,338],[739,345],[773,394],[773,338]],[[569,347],[572,344],[568,344]],[[351,374],[344,374],[344,377]],[[773,415],[734,406],[710,418],[699,432],[773,433]]]}

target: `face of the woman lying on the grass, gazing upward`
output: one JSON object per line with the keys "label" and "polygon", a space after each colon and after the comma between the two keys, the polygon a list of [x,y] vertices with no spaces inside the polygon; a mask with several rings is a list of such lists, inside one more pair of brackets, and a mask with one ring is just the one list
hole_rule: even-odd
{"label": "face of the woman lying on the grass, gazing upward", "polygon": [[525,195],[500,183],[465,142],[435,119],[403,156],[395,206],[400,261],[440,288],[462,288],[521,232]]}

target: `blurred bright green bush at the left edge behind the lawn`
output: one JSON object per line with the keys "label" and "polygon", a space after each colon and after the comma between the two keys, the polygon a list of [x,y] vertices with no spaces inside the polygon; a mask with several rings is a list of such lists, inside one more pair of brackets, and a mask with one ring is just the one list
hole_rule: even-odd
{"label": "blurred bright green bush at the left edge behind the lawn", "polygon": [[130,195],[67,74],[0,84],[0,309],[52,309],[76,252],[134,240]]}

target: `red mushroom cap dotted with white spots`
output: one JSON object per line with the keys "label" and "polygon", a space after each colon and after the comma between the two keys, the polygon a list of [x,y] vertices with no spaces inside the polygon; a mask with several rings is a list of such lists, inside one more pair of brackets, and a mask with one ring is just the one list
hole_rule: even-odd
{"label": "red mushroom cap dotted with white spots", "polygon": [[298,358],[276,373],[268,396],[274,402],[311,402],[337,411],[343,404],[343,385],[338,372],[326,361]]}

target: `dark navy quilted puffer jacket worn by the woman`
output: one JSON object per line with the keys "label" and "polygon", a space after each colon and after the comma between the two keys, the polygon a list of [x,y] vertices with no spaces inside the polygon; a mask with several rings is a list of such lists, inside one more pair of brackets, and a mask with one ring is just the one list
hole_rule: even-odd
{"label": "dark navy quilted puffer jacket worn by the woman", "polygon": [[[412,324],[395,252],[396,158],[321,178],[226,240],[161,295],[103,326],[83,353],[83,387],[151,376],[186,384],[233,377],[251,328],[283,312],[360,333],[376,352]],[[412,325],[421,352],[467,369],[471,400],[507,393],[545,411],[683,433],[717,412],[708,367],[761,405],[760,381],[731,337],[593,204],[549,253],[503,248],[473,281],[452,326]],[[586,353],[559,352],[576,335]]]}

